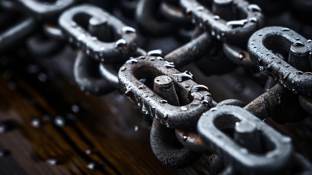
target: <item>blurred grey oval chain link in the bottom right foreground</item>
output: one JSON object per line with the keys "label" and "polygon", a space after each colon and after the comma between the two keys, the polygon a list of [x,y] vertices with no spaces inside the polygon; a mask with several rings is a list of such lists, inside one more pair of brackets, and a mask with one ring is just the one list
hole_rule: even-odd
{"label": "blurred grey oval chain link in the bottom right foreground", "polygon": [[[259,132],[265,148],[263,154],[250,152],[222,132],[251,134]],[[291,169],[293,146],[283,136],[248,111],[236,106],[220,106],[205,112],[199,119],[197,131],[202,142],[221,156],[234,172],[243,175],[274,175]]]}

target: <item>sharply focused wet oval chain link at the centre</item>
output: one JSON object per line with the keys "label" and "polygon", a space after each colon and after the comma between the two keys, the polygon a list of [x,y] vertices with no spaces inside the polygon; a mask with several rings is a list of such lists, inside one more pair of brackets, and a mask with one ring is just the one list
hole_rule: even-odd
{"label": "sharply focused wet oval chain link at the centre", "polygon": [[[150,113],[161,124],[170,128],[193,127],[200,115],[212,106],[211,94],[206,86],[193,81],[189,71],[181,73],[173,67],[173,63],[160,56],[132,58],[120,68],[119,82],[124,93],[142,107],[142,112]],[[149,79],[153,82],[159,75],[167,75],[173,80],[181,106],[168,104],[151,86],[140,81]]]}

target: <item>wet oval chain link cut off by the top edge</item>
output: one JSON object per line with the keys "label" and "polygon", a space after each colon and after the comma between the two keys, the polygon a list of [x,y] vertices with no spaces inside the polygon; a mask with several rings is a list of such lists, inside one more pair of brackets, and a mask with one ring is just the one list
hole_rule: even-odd
{"label": "wet oval chain link cut off by the top edge", "polygon": [[264,25],[261,8],[245,0],[234,0],[240,19],[227,21],[214,14],[196,0],[180,0],[180,5],[193,22],[211,32],[217,39],[228,43],[246,42]]}

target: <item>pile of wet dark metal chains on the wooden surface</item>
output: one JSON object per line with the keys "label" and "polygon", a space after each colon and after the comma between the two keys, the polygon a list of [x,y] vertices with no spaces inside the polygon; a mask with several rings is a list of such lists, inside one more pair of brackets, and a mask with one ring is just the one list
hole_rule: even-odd
{"label": "pile of wet dark metal chains on the wooden surface", "polygon": [[[66,44],[79,49],[73,66],[81,90],[121,89],[150,114],[152,150],[163,165],[184,168],[212,155],[212,175],[312,174],[291,139],[263,122],[312,115],[312,40],[303,36],[312,36],[311,18],[304,17],[311,1],[0,0],[0,8],[1,52],[24,41],[38,55]],[[267,16],[284,11],[294,28],[268,24]],[[180,47],[166,55],[140,48],[145,37],[172,35]],[[204,74],[230,72],[234,63],[265,92],[249,104],[214,101],[207,86],[181,70],[212,50],[222,67],[208,69],[207,59],[197,65]]]}

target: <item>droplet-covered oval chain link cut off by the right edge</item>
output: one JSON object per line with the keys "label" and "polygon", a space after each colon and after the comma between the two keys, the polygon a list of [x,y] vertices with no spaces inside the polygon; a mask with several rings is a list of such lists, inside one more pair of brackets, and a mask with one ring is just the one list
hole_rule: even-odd
{"label": "droplet-covered oval chain link cut off by the right edge", "polygon": [[248,51],[251,58],[258,62],[259,69],[263,69],[284,87],[295,94],[311,96],[312,73],[298,70],[270,51],[270,49],[280,48],[289,52],[292,44],[298,41],[303,44],[302,47],[305,50],[311,52],[312,41],[310,42],[297,32],[279,26],[265,27],[250,37]]}

